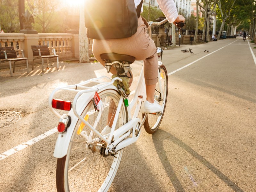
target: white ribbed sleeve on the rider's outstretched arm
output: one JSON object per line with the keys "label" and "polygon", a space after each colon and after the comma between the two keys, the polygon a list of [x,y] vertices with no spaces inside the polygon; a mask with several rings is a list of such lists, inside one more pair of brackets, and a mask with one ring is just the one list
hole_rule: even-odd
{"label": "white ribbed sleeve on the rider's outstretched arm", "polygon": [[170,23],[178,17],[178,11],[174,0],[156,0],[160,9]]}

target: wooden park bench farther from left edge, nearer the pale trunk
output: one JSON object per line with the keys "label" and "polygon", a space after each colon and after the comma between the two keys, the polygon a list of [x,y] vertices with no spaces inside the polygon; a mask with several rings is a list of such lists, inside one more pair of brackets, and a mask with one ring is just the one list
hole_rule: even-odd
{"label": "wooden park bench farther from left edge, nearer the pale trunk", "polygon": [[36,59],[42,59],[42,71],[44,71],[44,58],[47,58],[47,68],[49,65],[49,59],[57,57],[57,69],[59,69],[59,55],[56,55],[55,49],[53,55],[50,54],[50,50],[47,45],[31,45],[33,52],[33,64],[32,70],[34,70],[34,62]]}

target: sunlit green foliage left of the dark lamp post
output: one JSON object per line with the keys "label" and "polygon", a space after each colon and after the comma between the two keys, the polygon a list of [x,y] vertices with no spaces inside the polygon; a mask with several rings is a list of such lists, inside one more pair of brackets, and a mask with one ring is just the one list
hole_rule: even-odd
{"label": "sunlit green foliage left of the dark lamp post", "polygon": [[0,1],[0,25],[5,33],[20,30],[19,8],[17,0]]}

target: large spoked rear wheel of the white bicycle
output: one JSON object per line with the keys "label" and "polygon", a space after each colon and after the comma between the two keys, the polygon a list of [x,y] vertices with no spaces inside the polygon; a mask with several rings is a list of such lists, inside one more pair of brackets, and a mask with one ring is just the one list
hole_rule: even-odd
{"label": "large spoked rear wheel of the white bicycle", "polygon": [[[103,136],[108,136],[120,95],[112,89],[98,94],[103,102],[100,110],[95,111],[93,102],[90,101],[84,108],[82,117]],[[116,123],[118,129],[126,122],[124,103],[119,114],[116,115],[118,115]],[[106,148],[100,148],[97,144],[104,146],[104,141],[100,141],[98,135],[79,120],[67,155],[57,161],[57,191],[108,191],[116,175],[123,150],[118,151],[115,156],[105,155]]]}

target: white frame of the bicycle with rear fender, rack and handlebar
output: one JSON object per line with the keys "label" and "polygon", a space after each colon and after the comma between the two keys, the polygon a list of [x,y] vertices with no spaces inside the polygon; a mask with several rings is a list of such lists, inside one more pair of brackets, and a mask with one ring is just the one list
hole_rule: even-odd
{"label": "white frame of the bicycle with rear fender, rack and handlebar", "polygon": [[[167,19],[165,19],[159,23],[149,22],[149,35],[151,36],[151,26],[152,25],[161,25],[166,21],[167,21]],[[160,66],[161,64],[162,64],[162,62],[158,61],[158,65]],[[115,130],[118,116],[115,116],[115,118],[114,118],[114,122],[113,122],[113,125],[111,128],[110,134],[109,134],[109,138],[114,137],[114,142],[112,142],[112,143],[111,143],[111,140],[108,140],[107,138],[102,136],[100,134],[100,132],[98,132],[94,128],[95,125],[91,125],[87,121],[85,121],[84,118],[81,116],[81,114],[83,112],[84,107],[87,106],[87,104],[92,100],[95,92],[101,92],[106,89],[114,89],[114,90],[118,91],[118,89],[113,85],[113,83],[115,80],[122,82],[121,78],[115,77],[113,79],[110,79],[107,76],[102,76],[102,77],[87,80],[87,81],[79,83],[79,84],[56,88],[49,97],[48,105],[49,105],[49,108],[52,111],[52,113],[55,114],[56,116],[58,116],[59,118],[61,117],[60,113],[58,113],[54,108],[52,108],[52,99],[53,99],[55,93],[60,90],[77,92],[77,93],[73,100],[72,109],[68,112],[68,116],[70,116],[72,119],[71,124],[68,127],[66,132],[59,133],[53,156],[56,158],[62,158],[65,155],[67,155],[68,146],[69,146],[73,132],[76,131],[74,129],[76,127],[78,120],[81,120],[81,122],[83,122],[85,125],[87,125],[92,130],[92,132],[96,133],[101,138],[101,140],[104,140],[107,143],[107,148],[109,148],[109,149],[115,148],[115,150],[118,151],[118,150],[120,150],[124,147],[127,147],[128,145],[136,142],[140,136],[140,129],[147,117],[147,115],[146,115],[143,120],[138,118],[138,116],[140,114],[141,105],[146,101],[146,97],[144,97],[144,94],[146,93],[146,86],[145,86],[145,81],[144,81],[143,68],[144,68],[144,66],[142,67],[141,72],[140,72],[140,78],[139,78],[136,90],[134,92],[134,97],[133,97],[132,101],[129,102],[128,107],[126,107],[127,113],[128,113],[127,123],[124,124],[122,127],[120,127],[118,130]],[[108,82],[102,81],[103,78],[107,78],[109,81]],[[158,84],[159,84],[159,87],[161,88],[160,78],[161,78],[160,72],[158,71]],[[89,84],[91,82],[98,83],[98,85],[93,86],[93,87],[85,86],[86,84]],[[77,88],[80,88],[83,90],[77,90]],[[160,89],[160,92],[163,93],[161,89]],[[118,114],[120,112],[123,100],[124,100],[124,97],[121,95],[120,100],[118,102],[117,109],[116,109],[116,114]],[[135,105],[136,105],[136,108],[134,111],[134,115],[132,116],[131,109]],[[131,130],[132,130],[132,137],[127,138],[131,134]],[[137,135],[135,134],[135,131],[138,131]],[[81,134],[81,135],[83,136],[83,134]],[[124,140],[125,138],[127,138],[127,139]],[[108,150],[106,150],[106,153],[108,153]]]}

